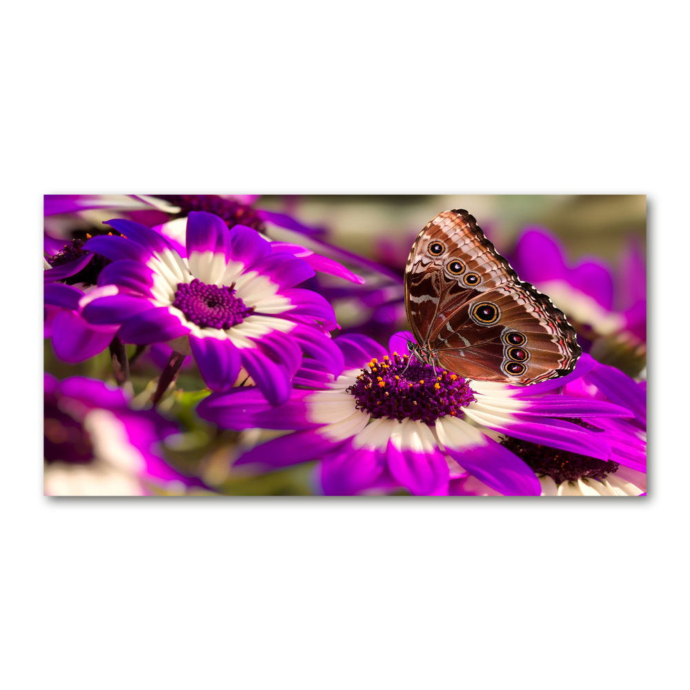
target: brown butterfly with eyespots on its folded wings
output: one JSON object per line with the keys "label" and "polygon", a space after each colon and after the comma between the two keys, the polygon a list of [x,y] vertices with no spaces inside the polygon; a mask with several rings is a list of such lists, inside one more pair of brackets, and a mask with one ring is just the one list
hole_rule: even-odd
{"label": "brown butterfly with eyespots on its folded wings", "polygon": [[520,280],[466,210],[439,213],[405,268],[411,353],[462,377],[528,385],[570,373],[582,354],[551,299]]}

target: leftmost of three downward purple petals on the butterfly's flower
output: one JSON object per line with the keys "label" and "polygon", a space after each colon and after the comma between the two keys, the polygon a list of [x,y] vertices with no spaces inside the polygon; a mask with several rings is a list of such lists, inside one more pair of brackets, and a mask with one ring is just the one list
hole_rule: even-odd
{"label": "leftmost of three downward purple petals on the butterfly's flower", "polygon": [[375,449],[353,450],[350,443],[319,466],[322,489],[327,496],[351,496],[369,489],[385,467],[385,456]]}

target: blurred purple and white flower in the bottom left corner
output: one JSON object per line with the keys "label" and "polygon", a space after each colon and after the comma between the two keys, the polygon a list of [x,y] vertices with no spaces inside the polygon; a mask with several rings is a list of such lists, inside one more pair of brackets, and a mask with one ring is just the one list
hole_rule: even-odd
{"label": "blurred purple and white flower in the bottom left corner", "polygon": [[148,495],[154,486],[203,486],[164,461],[159,442],[178,429],[155,411],[130,410],[126,393],[102,381],[45,374],[43,382],[47,495]]}

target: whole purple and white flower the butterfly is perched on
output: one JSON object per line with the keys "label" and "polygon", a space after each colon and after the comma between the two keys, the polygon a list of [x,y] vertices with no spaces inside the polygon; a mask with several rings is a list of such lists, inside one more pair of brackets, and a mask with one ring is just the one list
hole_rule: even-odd
{"label": "whole purple and white flower the butterfly is perched on", "polygon": [[434,371],[408,355],[409,333],[391,338],[389,351],[364,335],[344,335],[345,371],[333,377],[308,362],[295,377],[290,400],[277,409],[258,391],[214,393],[197,408],[221,428],[291,430],[255,447],[235,464],[276,468],[322,460],[326,494],[353,494],[402,486],[413,494],[448,493],[451,477],[471,473],[494,491],[539,495],[535,472],[500,443],[502,434],[608,460],[603,435],[562,417],[631,416],[605,400],[554,394],[589,371],[583,357],[573,373],[517,388],[471,382]]}

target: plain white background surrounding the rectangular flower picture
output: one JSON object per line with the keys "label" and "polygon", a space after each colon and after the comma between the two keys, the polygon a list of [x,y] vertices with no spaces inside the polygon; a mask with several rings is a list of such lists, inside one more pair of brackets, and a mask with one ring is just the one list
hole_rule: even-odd
{"label": "plain white background surrounding the rectangular flower picture", "polygon": [[[680,684],[690,454],[678,8],[5,10],[5,687]],[[131,191],[646,193],[649,497],[43,497],[41,195]]]}

